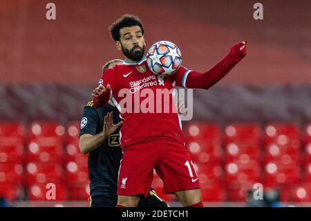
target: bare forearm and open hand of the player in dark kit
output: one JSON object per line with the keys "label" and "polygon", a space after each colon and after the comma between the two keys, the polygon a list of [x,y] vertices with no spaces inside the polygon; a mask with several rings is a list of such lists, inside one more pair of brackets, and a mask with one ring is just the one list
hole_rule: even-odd
{"label": "bare forearm and open hand of the player in dark kit", "polygon": [[113,124],[113,112],[108,113],[104,116],[104,125],[103,130],[99,134],[83,134],[79,139],[79,149],[83,154],[88,154],[96,148],[98,148],[107,137],[115,132],[118,127],[123,124],[123,121],[120,121],[117,124]]}

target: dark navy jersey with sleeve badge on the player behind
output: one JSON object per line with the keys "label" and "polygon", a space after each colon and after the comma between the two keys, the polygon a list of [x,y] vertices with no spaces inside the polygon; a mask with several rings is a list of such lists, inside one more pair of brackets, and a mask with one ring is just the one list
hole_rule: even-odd
{"label": "dark navy jersey with sleeve badge on the player behind", "polygon": [[[79,136],[95,135],[102,132],[104,116],[113,112],[113,123],[120,122],[119,112],[107,103],[104,107],[95,108],[93,102],[84,107]],[[117,175],[122,159],[119,129],[111,134],[100,147],[88,154],[88,177],[91,184],[91,196],[107,195],[117,197]]]}

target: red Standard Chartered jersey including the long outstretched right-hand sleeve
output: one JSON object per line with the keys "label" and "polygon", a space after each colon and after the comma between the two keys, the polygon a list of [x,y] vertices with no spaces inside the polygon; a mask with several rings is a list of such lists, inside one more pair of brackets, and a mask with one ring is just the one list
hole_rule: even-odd
{"label": "red Standard Chartered jersey including the long outstretched right-hand sleeve", "polygon": [[[169,98],[162,99],[162,95],[157,94],[158,90],[172,92],[175,86],[209,89],[245,57],[245,45],[245,42],[234,44],[225,58],[205,73],[180,67],[172,76],[155,76],[148,69],[146,58],[137,63],[124,62],[113,69],[106,69],[100,83],[105,87],[111,85],[111,100],[125,120],[120,130],[122,147],[159,136],[184,144],[180,118],[176,108],[171,105],[173,93],[169,94]],[[104,105],[109,98],[107,95],[104,93],[102,98],[93,98],[94,105]],[[131,102],[124,104],[124,100]],[[153,108],[150,108],[151,103]],[[161,104],[162,107],[169,106],[169,111],[162,107],[159,111]]]}

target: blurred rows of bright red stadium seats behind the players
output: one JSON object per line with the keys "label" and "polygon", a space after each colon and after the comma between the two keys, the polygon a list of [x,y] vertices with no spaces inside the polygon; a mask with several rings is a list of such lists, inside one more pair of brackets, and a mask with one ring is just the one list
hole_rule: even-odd
{"label": "blurred rows of bright red stadium seats behind the players", "polygon": [[[88,155],[79,151],[79,122],[0,123],[0,195],[9,200],[87,200]],[[310,202],[311,125],[189,123],[186,147],[205,202],[243,202],[254,184],[279,188],[284,202]],[[27,133],[28,131],[28,133]],[[153,188],[167,202],[156,173]]]}

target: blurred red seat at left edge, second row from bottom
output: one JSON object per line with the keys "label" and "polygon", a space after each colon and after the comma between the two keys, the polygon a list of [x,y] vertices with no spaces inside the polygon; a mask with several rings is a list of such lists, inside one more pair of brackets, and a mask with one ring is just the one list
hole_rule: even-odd
{"label": "blurred red seat at left edge, second row from bottom", "polygon": [[23,182],[23,166],[19,163],[0,163],[0,184]]}

